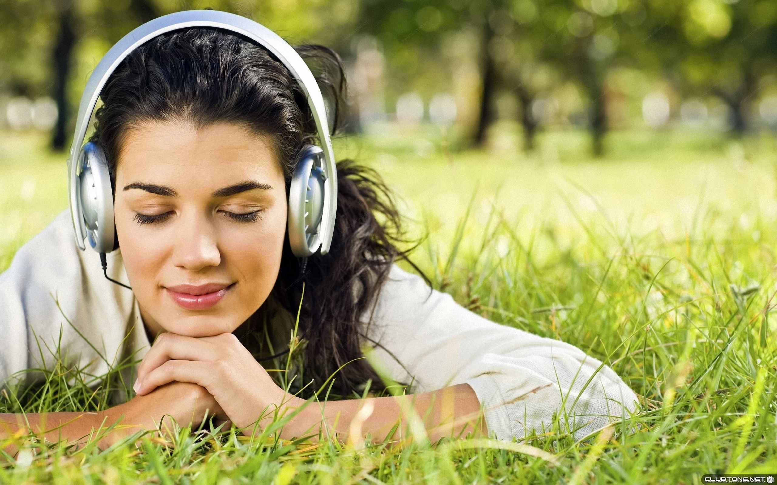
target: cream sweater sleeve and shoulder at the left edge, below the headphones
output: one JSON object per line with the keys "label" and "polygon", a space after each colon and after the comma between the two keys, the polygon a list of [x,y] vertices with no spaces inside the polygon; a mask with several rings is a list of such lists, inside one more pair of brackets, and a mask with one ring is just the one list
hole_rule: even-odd
{"label": "cream sweater sleeve and shoulder at the left edge, below the headphones", "polygon": [[[126,281],[120,253],[107,256],[113,279]],[[134,303],[105,279],[95,251],[76,247],[70,213],[59,214],[0,274],[0,386],[20,371],[51,369],[57,357],[105,374],[145,338],[132,331],[140,324]]]}

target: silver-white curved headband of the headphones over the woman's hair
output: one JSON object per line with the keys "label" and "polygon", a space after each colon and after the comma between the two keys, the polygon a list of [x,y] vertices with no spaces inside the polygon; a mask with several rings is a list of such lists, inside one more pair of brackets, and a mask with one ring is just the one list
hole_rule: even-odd
{"label": "silver-white curved headband of the headphones over the woman's hair", "polygon": [[278,36],[277,33],[267,29],[267,27],[260,23],[246,19],[246,17],[228,12],[219,12],[218,10],[186,10],[171,13],[139,26],[115,43],[108,50],[107,54],[103,56],[103,59],[99,61],[95,70],[92,71],[92,75],[89,76],[89,81],[87,81],[86,88],[81,96],[81,104],[78,106],[78,120],[75,124],[75,134],[70,147],[70,157],[68,158],[68,197],[70,199],[71,217],[78,247],[85,249],[84,238],[86,237],[86,231],[82,216],[78,213],[78,200],[76,200],[78,192],[74,184],[77,183],[78,175],[81,173],[82,165],[78,163],[78,158],[84,143],[86,130],[89,127],[89,120],[92,117],[92,111],[95,109],[100,92],[103,90],[103,86],[110,78],[110,75],[113,74],[113,71],[135,48],[163,33],[187,27],[214,27],[246,36],[269,50],[277,57],[278,61],[286,66],[291,75],[298,80],[308,99],[308,106],[310,106],[313,120],[315,120],[315,127],[319,132],[319,140],[321,140],[325,161],[322,167],[324,169],[323,217],[319,234],[321,254],[326,255],[329,252],[329,246],[332,244],[337,210],[337,169],[332,150],[332,140],[329,137],[326,105],[324,104],[324,98],[321,95],[319,85],[315,81],[310,68],[308,68],[308,65],[305,64],[305,61],[302,60],[297,51]]}

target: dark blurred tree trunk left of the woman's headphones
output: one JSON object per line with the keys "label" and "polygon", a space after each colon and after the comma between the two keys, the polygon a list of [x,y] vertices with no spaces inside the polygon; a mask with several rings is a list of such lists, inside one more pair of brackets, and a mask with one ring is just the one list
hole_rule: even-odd
{"label": "dark blurred tree trunk left of the woman's headphones", "polygon": [[63,2],[59,16],[59,34],[54,46],[52,62],[54,64],[54,101],[57,102],[57,124],[54,125],[54,133],[51,137],[51,146],[54,150],[64,150],[68,140],[68,118],[70,108],[68,106],[68,76],[70,74],[75,47],[75,29],[73,28],[73,4]]}

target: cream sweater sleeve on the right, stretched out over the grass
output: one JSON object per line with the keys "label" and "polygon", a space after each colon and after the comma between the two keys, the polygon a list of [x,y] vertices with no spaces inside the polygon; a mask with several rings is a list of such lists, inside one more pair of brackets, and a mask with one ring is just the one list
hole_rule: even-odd
{"label": "cream sweater sleeve on the right, stretched out over the grass", "polygon": [[542,434],[554,415],[581,438],[636,411],[629,386],[579,348],[479,317],[396,266],[371,317],[368,339],[393,379],[413,392],[469,384],[496,438]]}

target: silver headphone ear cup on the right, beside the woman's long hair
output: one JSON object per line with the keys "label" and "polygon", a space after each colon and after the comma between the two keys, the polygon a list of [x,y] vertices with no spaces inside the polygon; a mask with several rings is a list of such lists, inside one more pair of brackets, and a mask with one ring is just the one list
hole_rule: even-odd
{"label": "silver headphone ear cup on the right, beside the woman's long hair", "polygon": [[302,151],[289,185],[288,233],[291,251],[307,258],[321,246],[319,237],[324,212],[323,151],[310,145]]}

